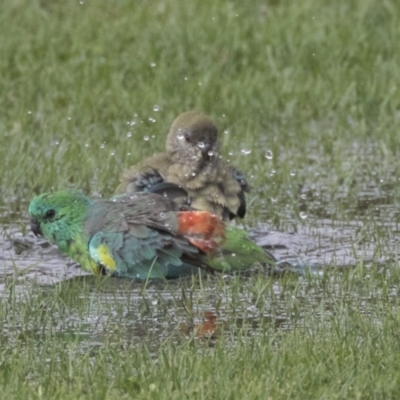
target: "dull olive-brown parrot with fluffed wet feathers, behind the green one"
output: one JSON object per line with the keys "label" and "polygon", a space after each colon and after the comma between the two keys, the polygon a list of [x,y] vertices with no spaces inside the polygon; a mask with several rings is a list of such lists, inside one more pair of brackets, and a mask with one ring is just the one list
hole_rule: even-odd
{"label": "dull olive-brown parrot with fluffed wet feathers, behind the green one", "polygon": [[219,155],[217,127],[205,114],[188,111],[173,122],[166,153],[157,153],[123,172],[116,194],[147,191],[160,182],[182,187],[188,204],[224,221],[246,214],[244,174],[227,166]]}

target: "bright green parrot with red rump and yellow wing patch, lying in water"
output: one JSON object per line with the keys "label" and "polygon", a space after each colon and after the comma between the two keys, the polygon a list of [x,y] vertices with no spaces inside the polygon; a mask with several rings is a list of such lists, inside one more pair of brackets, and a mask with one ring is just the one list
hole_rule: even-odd
{"label": "bright green parrot with red rump and yellow wing patch, lying in water", "polygon": [[208,211],[181,208],[172,197],[182,189],[171,196],[161,188],[111,200],[68,190],[44,193],[29,205],[31,229],[94,274],[145,280],[275,265],[244,230]]}

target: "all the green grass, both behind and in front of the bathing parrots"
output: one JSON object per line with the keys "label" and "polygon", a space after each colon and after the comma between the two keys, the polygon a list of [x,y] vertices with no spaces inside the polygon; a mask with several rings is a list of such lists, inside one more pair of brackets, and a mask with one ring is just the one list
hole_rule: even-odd
{"label": "all the green grass, both behind and in front of the bathing parrots", "polygon": [[[27,202],[44,190],[110,195],[125,166],[163,149],[175,116],[198,109],[256,188],[250,225],[295,231],[361,221],[354,247],[372,242],[381,253],[398,231],[394,0],[13,0],[0,2],[0,37],[2,222],[24,225]],[[26,285],[19,297],[9,281],[0,394],[397,398],[398,280],[394,263],[322,278],[206,282],[214,293],[195,287],[195,302],[217,314],[232,303],[218,314],[222,333],[211,343],[182,335],[178,296],[156,307],[180,310],[161,344],[124,328],[140,310],[123,314],[115,294],[112,307],[97,303],[101,284]],[[252,306],[268,318],[247,318]],[[96,313],[112,324],[88,348],[77,332]]]}

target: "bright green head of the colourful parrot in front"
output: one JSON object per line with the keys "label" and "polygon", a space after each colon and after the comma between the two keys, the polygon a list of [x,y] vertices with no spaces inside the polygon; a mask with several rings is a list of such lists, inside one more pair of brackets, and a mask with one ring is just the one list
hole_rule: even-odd
{"label": "bright green head of the colourful parrot in front", "polygon": [[31,229],[66,250],[83,230],[90,200],[80,192],[63,190],[36,196],[29,205]]}

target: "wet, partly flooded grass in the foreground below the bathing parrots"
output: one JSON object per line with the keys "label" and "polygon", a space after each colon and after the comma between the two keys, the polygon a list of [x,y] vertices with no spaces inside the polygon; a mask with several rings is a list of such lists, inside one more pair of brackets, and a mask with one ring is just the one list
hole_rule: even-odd
{"label": "wet, partly flooded grass in the foreground below the bathing parrots", "polygon": [[[155,284],[142,296],[141,285],[115,279],[30,284],[20,292],[10,280],[0,302],[0,393],[395,398],[399,280],[397,265],[359,265],[319,279]],[[199,337],[190,327],[207,308],[217,329]]]}

